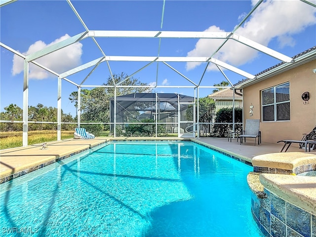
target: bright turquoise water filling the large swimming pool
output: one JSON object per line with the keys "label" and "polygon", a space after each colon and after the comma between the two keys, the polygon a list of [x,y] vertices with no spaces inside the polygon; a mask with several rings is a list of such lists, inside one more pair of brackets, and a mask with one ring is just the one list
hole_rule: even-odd
{"label": "bright turquoise water filling the large swimming pool", "polygon": [[260,237],[252,167],[193,142],[113,142],[0,188],[0,236]]}

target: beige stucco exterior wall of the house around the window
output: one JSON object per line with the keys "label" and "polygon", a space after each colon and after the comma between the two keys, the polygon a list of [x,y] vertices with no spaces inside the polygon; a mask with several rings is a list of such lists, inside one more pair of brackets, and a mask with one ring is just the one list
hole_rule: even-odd
{"label": "beige stucco exterior wall of the house around the window", "polygon": [[[309,133],[316,125],[316,60],[259,81],[243,88],[243,115],[245,119],[260,119],[262,142],[276,143],[279,140],[301,140],[302,133]],[[290,121],[262,122],[261,90],[290,82]],[[310,100],[303,104],[302,94],[308,91]],[[253,105],[253,116],[249,106]]]}

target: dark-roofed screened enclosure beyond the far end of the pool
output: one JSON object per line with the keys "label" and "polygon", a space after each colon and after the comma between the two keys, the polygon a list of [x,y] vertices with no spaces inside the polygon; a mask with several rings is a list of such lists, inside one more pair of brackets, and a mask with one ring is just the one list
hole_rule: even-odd
{"label": "dark-roofed screened enclosure beyond the far end of the pool", "polygon": [[[117,135],[196,137],[195,97],[176,93],[133,93],[111,98],[110,131]],[[133,124],[140,124],[130,129]],[[113,125],[112,125],[113,124]],[[147,133],[139,128],[147,128]],[[134,128],[134,127],[133,127]],[[156,131],[157,129],[157,131]],[[143,130],[143,129],[142,129]]]}

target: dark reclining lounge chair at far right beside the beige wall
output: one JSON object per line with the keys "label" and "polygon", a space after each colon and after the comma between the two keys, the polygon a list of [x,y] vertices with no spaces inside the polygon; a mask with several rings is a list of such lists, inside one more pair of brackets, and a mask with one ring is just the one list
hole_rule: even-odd
{"label": "dark reclining lounge chair at far right beside the beige wall", "polygon": [[[301,140],[281,140],[281,141],[277,141],[277,143],[278,142],[284,142],[284,146],[282,147],[280,152],[282,152],[285,146],[287,145],[284,151],[286,152],[292,143],[298,143],[301,149],[305,149],[305,152],[307,152],[308,150],[313,151],[316,149],[316,126],[313,128],[313,130],[309,134],[303,133],[303,137]],[[308,146],[309,146],[309,149],[308,149]]]}

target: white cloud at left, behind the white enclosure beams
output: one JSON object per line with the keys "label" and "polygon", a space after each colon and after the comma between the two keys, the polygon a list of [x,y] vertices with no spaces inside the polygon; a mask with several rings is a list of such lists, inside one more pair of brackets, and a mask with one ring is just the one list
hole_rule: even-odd
{"label": "white cloud at left, behind the white enclosure beams", "polygon": [[[24,55],[28,55],[34,52],[37,52],[47,46],[53,45],[63,40],[67,40],[70,38],[69,35],[62,36],[61,38],[54,40],[53,42],[46,44],[45,42],[39,40],[33,43],[28,51],[24,52]],[[72,68],[75,68],[80,65],[81,63],[81,55],[82,55],[82,44],[80,42],[74,43],[69,45],[65,48],[59,49],[55,52],[52,52],[48,55],[40,57],[39,59],[35,60],[36,62],[40,63],[41,65],[51,69],[56,73],[63,73]],[[23,72],[24,68],[24,60],[17,56],[13,56],[13,66],[12,66],[12,75],[17,75]],[[51,74],[47,71],[41,69],[40,67],[34,65],[33,63],[30,64],[30,79],[45,79],[48,78]]]}

